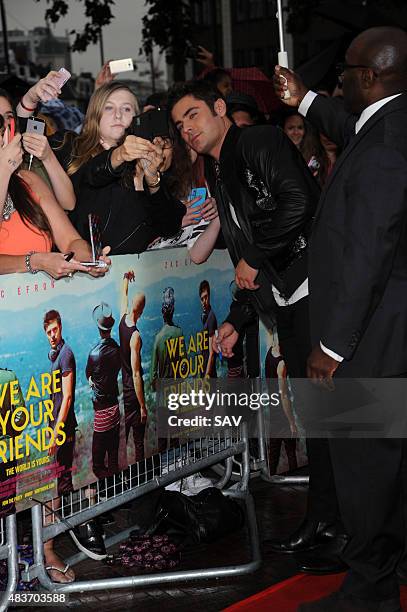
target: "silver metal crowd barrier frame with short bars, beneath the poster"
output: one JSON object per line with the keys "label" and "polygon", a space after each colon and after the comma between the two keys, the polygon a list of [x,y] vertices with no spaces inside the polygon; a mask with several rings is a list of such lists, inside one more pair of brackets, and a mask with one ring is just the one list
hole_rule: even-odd
{"label": "silver metal crowd barrier frame with short bars, beneath the poster", "polygon": [[[223,488],[231,472],[231,462],[236,455],[242,456],[242,478],[240,482],[223,491],[240,500],[245,506],[245,515],[251,559],[240,565],[202,568],[195,570],[159,572],[120,578],[99,580],[76,580],[72,583],[52,582],[45,570],[43,543],[68,529],[84,523],[103,512],[113,510],[121,504],[134,500],[142,495],[165,487],[175,481],[208,468],[219,461],[227,461],[225,475],[214,486]],[[37,577],[40,584],[53,592],[73,593],[95,591],[100,589],[120,589],[143,587],[174,581],[239,576],[255,571],[261,564],[259,539],[253,498],[249,492],[250,459],[248,449],[247,427],[243,425],[233,432],[228,431],[214,437],[199,438],[181,443],[175,448],[153,455],[149,459],[134,464],[112,477],[109,482],[97,481],[80,491],[70,494],[63,504],[53,513],[52,503],[43,506],[36,504],[32,508],[34,564],[25,573],[24,578],[31,580]],[[91,505],[90,505],[91,500]],[[54,515],[54,521],[50,521]],[[125,539],[134,527],[129,527],[106,539],[106,548]],[[74,565],[85,558],[78,553],[67,559]]]}

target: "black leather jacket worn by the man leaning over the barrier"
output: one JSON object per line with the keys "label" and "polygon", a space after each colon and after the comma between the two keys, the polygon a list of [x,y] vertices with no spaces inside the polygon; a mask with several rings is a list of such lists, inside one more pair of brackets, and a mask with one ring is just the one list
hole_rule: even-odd
{"label": "black leather jacket worn by the man leaning over the barrier", "polygon": [[261,315],[275,308],[271,284],[289,297],[305,280],[320,190],[297,148],[271,125],[232,126],[214,172],[222,233],[232,261],[237,265],[243,258],[259,270],[260,289],[239,297],[232,309],[235,315],[228,318],[238,328],[239,303],[247,311],[251,302]]}

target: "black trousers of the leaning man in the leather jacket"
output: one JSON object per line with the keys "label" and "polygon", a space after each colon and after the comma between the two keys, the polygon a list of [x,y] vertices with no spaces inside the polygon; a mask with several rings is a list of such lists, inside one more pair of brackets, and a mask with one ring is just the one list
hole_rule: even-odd
{"label": "black trousers of the leaning man in the leather jacket", "polygon": [[[291,378],[307,376],[307,358],[311,352],[308,298],[276,309],[281,355]],[[299,403],[301,398],[295,397]],[[295,404],[296,405],[296,404]],[[309,490],[307,518],[313,521],[339,520],[338,501],[326,438],[307,438]]]}

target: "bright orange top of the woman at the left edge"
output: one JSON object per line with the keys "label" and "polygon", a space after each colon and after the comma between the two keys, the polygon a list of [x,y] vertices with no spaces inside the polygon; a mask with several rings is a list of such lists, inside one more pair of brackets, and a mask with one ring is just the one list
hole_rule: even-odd
{"label": "bright orange top of the woman at the left edge", "polygon": [[[38,196],[32,195],[39,205]],[[3,220],[0,226],[0,255],[25,255],[29,251],[49,253],[51,248],[52,242],[45,232],[34,225],[26,225],[17,210],[8,221]]]}

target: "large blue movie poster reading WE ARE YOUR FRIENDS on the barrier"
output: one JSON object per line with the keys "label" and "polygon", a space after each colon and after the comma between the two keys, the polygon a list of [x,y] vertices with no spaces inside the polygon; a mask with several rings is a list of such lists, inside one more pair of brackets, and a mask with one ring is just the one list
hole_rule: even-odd
{"label": "large blue movie poster reading WE ARE YOUR FRIENDS on the barrier", "polygon": [[227,375],[210,336],[232,281],[225,251],[196,266],[184,248],[114,257],[99,279],[0,277],[2,513],[160,450],[157,380]]}

